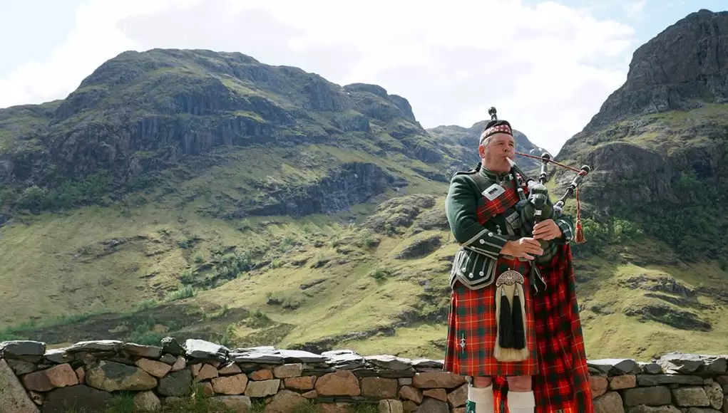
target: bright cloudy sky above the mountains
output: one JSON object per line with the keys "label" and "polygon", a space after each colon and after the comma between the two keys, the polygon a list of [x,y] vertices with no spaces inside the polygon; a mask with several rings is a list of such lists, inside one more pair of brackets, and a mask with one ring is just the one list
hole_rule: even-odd
{"label": "bright cloudy sky above the mountains", "polygon": [[634,50],[725,0],[0,0],[0,108],[63,99],[127,50],[241,52],[405,97],[423,127],[495,106],[557,153]]}

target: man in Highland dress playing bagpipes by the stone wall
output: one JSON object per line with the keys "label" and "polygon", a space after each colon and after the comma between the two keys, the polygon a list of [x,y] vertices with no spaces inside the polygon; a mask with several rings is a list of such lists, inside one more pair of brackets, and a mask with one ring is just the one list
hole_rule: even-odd
{"label": "man in Highland dress playing bagpipes by the stone wall", "polygon": [[550,158],[542,158],[540,182],[526,177],[513,162],[510,124],[489,112],[480,164],[452,177],[446,199],[460,248],[444,369],[468,377],[467,413],[592,413],[574,294],[574,222],[561,214],[588,167],[552,204],[544,185]]}

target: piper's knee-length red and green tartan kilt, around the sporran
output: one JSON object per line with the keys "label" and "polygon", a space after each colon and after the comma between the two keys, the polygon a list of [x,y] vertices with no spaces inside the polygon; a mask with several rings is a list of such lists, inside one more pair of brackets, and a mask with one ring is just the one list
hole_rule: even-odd
{"label": "piper's knee-length red and green tartan kilt, around the sporran", "polygon": [[[448,334],[444,360],[444,370],[470,377],[492,376],[530,376],[538,374],[538,348],[536,343],[536,323],[534,308],[529,289],[529,262],[507,260],[499,257],[496,263],[496,277],[508,269],[523,274],[526,283],[526,346],[529,358],[525,361],[504,362],[494,357],[496,343],[496,285],[482,289],[468,289],[456,281],[453,286],[448,313]],[[465,337],[465,347],[460,340]]]}

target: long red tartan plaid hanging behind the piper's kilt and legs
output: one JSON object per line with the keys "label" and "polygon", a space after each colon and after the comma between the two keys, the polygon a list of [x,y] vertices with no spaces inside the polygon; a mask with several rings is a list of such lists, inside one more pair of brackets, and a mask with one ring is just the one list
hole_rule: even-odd
{"label": "long red tartan plaid hanging behind the piper's kilt and legs", "polygon": [[[547,289],[532,299],[540,361],[532,377],[535,412],[594,413],[571,246],[560,246],[542,267]],[[505,377],[494,380],[495,412],[508,413],[507,387]]]}

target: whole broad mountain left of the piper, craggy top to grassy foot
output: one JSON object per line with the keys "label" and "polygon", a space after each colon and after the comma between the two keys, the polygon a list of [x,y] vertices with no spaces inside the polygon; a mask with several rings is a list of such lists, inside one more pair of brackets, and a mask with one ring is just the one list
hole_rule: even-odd
{"label": "whole broad mountain left of the piper, craggy top to grassy foot", "polygon": [[376,85],[122,53],[64,100],[0,110],[0,337],[317,348],[442,321],[441,196],[473,166],[442,139]]}

